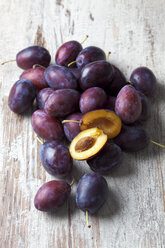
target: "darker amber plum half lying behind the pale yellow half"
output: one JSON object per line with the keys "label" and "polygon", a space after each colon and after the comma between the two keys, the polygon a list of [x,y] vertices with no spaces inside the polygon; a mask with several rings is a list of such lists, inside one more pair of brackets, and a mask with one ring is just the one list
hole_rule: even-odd
{"label": "darker amber plum half lying behind the pale yellow half", "polygon": [[112,139],[116,137],[121,131],[120,118],[110,110],[94,110],[83,115],[81,119],[80,130],[97,127]]}

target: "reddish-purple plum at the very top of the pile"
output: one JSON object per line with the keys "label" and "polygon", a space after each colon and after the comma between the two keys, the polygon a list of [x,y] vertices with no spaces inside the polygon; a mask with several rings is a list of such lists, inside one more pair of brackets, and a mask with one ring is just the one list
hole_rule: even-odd
{"label": "reddish-purple plum at the very top of the pile", "polygon": [[82,50],[82,45],[78,41],[72,40],[65,42],[57,50],[55,56],[56,64],[67,67],[70,62],[76,60],[76,57],[81,50]]}

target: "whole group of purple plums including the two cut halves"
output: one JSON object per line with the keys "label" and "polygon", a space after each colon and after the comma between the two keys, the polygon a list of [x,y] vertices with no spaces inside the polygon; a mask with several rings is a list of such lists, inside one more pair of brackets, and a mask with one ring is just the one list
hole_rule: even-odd
{"label": "whole group of purple plums including the two cut halves", "polygon": [[[32,127],[42,141],[40,159],[45,170],[63,178],[72,173],[73,159],[86,160],[92,173],[85,174],[76,191],[78,208],[96,213],[108,197],[108,174],[122,162],[122,151],[145,148],[150,138],[140,124],[149,118],[147,97],[155,92],[156,78],[147,67],[135,69],[130,81],[106,61],[105,52],[95,46],[82,48],[77,41],[64,43],[50,65],[49,52],[31,46],[16,56],[25,71],[11,88],[8,105],[21,114],[35,98],[38,110]],[[71,142],[62,143],[64,136]],[[34,205],[54,211],[71,191],[66,181],[45,183]]]}

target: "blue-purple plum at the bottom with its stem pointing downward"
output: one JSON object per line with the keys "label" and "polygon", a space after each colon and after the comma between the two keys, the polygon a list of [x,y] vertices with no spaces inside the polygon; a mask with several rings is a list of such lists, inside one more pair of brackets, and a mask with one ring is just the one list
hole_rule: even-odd
{"label": "blue-purple plum at the bottom with its stem pointing downward", "polygon": [[85,174],[76,190],[76,204],[82,211],[95,214],[108,198],[108,185],[98,173]]}

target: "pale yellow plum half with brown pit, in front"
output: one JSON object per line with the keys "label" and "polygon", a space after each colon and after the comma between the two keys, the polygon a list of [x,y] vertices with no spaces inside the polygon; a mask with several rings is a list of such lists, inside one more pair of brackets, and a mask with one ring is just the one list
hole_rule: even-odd
{"label": "pale yellow plum half with brown pit, in front", "polygon": [[77,160],[85,160],[96,155],[106,144],[107,135],[98,128],[80,132],[70,144],[70,154]]}

